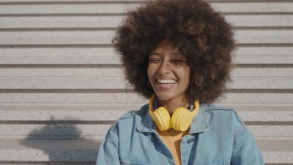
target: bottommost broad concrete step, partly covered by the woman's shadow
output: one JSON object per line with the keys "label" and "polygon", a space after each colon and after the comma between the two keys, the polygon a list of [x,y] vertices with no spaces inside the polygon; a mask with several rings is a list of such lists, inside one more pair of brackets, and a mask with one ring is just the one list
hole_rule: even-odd
{"label": "bottommost broad concrete step, partly covered by the woman's shadow", "polygon": [[[0,139],[1,161],[94,162],[99,140]],[[292,164],[293,141],[257,141],[266,164]]]}

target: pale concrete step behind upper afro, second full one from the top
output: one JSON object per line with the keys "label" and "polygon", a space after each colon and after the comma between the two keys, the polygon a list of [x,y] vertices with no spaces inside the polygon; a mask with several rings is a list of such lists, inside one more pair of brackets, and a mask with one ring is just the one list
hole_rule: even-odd
{"label": "pale concrete step behind upper afro, second full one from the top", "polygon": [[[93,4],[91,4],[93,5]],[[113,16],[5,16],[0,17],[1,29],[23,28],[116,28],[122,15]],[[272,13],[264,15],[233,15],[227,13],[226,19],[234,27],[289,27],[293,26],[293,15]],[[290,21],[291,20],[291,21]],[[62,22],[62,23],[61,23]]]}

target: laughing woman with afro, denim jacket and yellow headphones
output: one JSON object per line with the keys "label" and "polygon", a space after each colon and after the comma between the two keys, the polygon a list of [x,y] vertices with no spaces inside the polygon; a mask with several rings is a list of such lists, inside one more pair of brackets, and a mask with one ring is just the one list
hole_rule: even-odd
{"label": "laughing woman with afro, denim jacket and yellow headphones", "polygon": [[236,44],[208,2],[148,1],[128,12],[112,42],[149,104],[111,126],[97,165],[264,165],[236,111],[213,104],[230,81]]}

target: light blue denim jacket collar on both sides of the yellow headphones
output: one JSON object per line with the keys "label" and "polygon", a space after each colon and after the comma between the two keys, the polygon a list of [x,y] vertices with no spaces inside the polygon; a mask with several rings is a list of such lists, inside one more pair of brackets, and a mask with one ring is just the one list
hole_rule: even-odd
{"label": "light blue denim jacket collar on both sides of the yellow headphones", "polygon": [[[155,98],[155,100],[153,102],[153,109],[157,109],[157,102],[158,102],[158,100],[157,100],[157,98]],[[157,127],[155,125],[155,122],[153,121],[153,119],[149,115],[148,108],[149,108],[148,104],[146,104],[146,106],[142,107],[141,111],[145,112],[146,115],[145,115],[144,119],[142,120],[140,126],[137,128],[137,130],[139,132],[153,132],[154,133],[157,131]],[[207,122],[207,116],[206,116],[203,108],[204,108],[204,106],[202,104],[200,104],[199,112],[192,119],[192,122],[190,124],[189,134],[200,133],[200,132],[205,132],[205,131],[210,130],[210,127]]]}

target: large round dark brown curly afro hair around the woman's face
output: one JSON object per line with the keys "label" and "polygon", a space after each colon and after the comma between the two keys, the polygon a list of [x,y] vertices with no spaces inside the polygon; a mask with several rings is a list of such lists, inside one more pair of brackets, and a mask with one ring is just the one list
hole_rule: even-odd
{"label": "large round dark brown curly afro hair around the woman's face", "polygon": [[155,0],[126,14],[112,43],[136,92],[147,99],[154,92],[147,84],[148,56],[167,39],[191,67],[187,97],[212,103],[223,96],[227,81],[232,82],[231,53],[237,45],[233,27],[220,11],[205,0]]}

